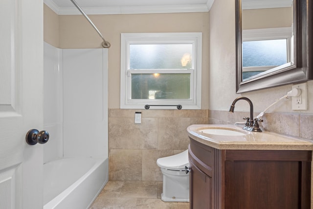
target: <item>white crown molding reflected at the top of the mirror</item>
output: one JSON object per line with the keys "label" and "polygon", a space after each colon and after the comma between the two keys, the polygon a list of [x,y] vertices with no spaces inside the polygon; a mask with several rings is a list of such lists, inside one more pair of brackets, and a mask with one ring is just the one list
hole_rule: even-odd
{"label": "white crown molding reflected at the top of the mirror", "polygon": [[291,6],[291,0],[242,0],[242,9],[266,9]]}

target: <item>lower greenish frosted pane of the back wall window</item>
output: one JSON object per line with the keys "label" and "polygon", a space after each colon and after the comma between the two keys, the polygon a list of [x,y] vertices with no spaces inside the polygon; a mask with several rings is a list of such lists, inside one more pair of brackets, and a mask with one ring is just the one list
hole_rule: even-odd
{"label": "lower greenish frosted pane of the back wall window", "polygon": [[190,74],[132,74],[132,99],[190,99]]}

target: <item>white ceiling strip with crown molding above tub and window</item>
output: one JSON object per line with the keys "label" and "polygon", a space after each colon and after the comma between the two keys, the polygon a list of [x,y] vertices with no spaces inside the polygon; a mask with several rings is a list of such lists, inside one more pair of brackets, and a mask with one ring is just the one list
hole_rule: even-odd
{"label": "white ceiling strip with crown molding above tub and window", "polygon": [[[86,14],[208,12],[214,0],[75,0]],[[58,15],[80,14],[70,0],[44,0]]]}

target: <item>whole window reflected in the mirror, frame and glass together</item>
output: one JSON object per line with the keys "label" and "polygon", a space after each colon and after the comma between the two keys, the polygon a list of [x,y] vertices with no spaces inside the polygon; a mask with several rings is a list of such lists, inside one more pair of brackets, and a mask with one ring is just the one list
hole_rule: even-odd
{"label": "whole window reflected in the mirror, frame and glass together", "polygon": [[243,81],[293,63],[292,28],[243,30]]}

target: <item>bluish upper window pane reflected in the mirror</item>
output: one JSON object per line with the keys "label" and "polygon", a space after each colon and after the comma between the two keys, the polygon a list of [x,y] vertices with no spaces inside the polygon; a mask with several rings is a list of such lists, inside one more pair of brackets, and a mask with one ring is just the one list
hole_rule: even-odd
{"label": "bluish upper window pane reflected in the mirror", "polygon": [[280,66],[287,60],[287,39],[243,42],[243,67]]}

